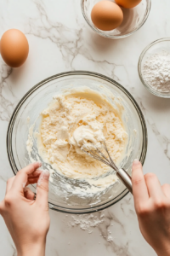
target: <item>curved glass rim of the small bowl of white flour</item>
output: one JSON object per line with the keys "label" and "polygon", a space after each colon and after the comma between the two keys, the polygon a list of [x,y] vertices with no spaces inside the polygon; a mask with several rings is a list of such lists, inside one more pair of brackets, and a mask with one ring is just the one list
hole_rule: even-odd
{"label": "curved glass rim of the small bowl of white flour", "polygon": [[152,46],[154,46],[155,44],[160,44],[162,42],[166,42],[169,41],[170,42],[170,38],[159,38],[156,39],[155,41],[153,41],[152,43],[148,44],[143,51],[141,52],[141,54],[139,55],[139,62],[138,62],[138,73],[139,73],[139,79],[141,80],[142,84],[144,85],[144,87],[150,91],[151,94],[161,97],[161,98],[170,98],[170,94],[167,96],[166,93],[162,93],[160,91],[154,90],[152,88],[152,86],[150,84],[147,84],[143,78],[142,75],[142,61],[144,59],[144,56],[147,54],[148,50],[150,48],[152,48]]}

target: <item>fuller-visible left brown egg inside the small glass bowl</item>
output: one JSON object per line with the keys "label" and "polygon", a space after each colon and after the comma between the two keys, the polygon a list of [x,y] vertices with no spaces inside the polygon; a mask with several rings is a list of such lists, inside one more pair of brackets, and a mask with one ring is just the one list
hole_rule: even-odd
{"label": "fuller-visible left brown egg inside the small glass bowl", "polygon": [[94,5],[91,18],[94,25],[100,30],[110,31],[121,25],[122,9],[111,1],[101,1]]}

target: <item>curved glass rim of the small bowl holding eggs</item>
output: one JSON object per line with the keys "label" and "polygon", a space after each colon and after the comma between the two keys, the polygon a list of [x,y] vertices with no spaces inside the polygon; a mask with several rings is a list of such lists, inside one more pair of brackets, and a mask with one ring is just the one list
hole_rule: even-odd
{"label": "curved glass rim of the small bowl holding eggs", "polygon": [[140,27],[144,25],[145,21],[148,19],[148,16],[150,15],[150,9],[151,9],[151,0],[146,0],[147,1],[147,8],[146,8],[147,12],[145,10],[144,19],[141,21],[139,26],[133,30],[133,32],[129,32],[126,35],[122,35],[122,36],[109,36],[109,35],[106,35],[105,32],[102,32],[101,30],[99,30],[97,27],[91,26],[85,12],[84,12],[84,8],[83,8],[84,1],[86,1],[86,0],[81,1],[81,9],[82,9],[82,15],[83,15],[84,19],[86,20],[86,22],[88,23],[88,26],[90,26],[94,30],[94,32],[98,33],[101,37],[111,38],[111,39],[127,38],[127,37],[133,35],[134,32],[137,32],[140,29]]}

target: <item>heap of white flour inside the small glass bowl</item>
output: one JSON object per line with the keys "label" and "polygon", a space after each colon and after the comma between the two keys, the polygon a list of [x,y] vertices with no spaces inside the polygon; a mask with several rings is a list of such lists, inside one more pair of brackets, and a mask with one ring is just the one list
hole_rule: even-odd
{"label": "heap of white flour inside the small glass bowl", "polygon": [[144,81],[160,92],[170,91],[170,53],[161,51],[150,55],[142,70]]}

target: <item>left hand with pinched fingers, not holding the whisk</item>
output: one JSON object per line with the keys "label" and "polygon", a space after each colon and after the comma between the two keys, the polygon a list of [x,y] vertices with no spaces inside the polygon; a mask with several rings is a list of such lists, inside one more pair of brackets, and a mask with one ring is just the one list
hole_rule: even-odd
{"label": "left hand with pinched fingers, not holding the whisk", "polygon": [[[13,238],[18,256],[45,255],[46,236],[49,229],[48,171],[37,170],[33,163],[17,172],[7,182],[6,195],[0,202],[0,213]],[[37,183],[37,198],[26,188]]]}

